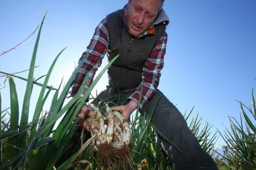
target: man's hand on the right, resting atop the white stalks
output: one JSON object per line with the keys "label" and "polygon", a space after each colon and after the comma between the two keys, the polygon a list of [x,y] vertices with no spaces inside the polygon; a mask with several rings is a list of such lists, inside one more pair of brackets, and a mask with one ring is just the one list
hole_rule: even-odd
{"label": "man's hand on the right, resting atop the white stalks", "polygon": [[117,107],[111,108],[113,111],[120,111],[122,113],[122,116],[124,119],[129,119],[130,115],[134,110],[137,108],[137,103],[130,100],[130,102],[127,105],[121,105]]}

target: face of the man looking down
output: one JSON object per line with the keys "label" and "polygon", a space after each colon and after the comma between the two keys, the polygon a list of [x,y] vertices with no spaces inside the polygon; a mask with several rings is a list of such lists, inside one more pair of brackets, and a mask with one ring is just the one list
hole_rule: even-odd
{"label": "face of the man looking down", "polygon": [[127,4],[127,27],[132,36],[144,33],[155,21],[163,6],[160,0],[129,0]]}

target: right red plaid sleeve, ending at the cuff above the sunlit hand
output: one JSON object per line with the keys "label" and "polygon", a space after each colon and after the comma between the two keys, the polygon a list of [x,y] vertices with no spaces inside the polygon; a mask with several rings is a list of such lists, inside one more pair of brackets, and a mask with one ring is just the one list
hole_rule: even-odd
{"label": "right red plaid sleeve, ending at the cuff above the sunlit hand", "polygon": [[156,46],[151,51],[145,66],[143,67],[143,83],[141,83],[140,86],[137,87],[136,91],[129,97],[130,100],[139,102],[140,92],[142,91],[140,100],[141,110],[143,110],[145,107],[147,100],[151,99],[153,94],[155,94],[158,87],[161,69],[164,66],[164,54],[166,52],[167,37],[167,33],[164,32],[163,36],[161,36],[159,41],[156,42]]}

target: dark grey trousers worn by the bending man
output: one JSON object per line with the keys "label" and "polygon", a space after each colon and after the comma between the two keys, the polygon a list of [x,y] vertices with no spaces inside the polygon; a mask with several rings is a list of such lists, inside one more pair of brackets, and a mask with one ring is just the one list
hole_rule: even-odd
{"label": "dark grey trousers worn by the bending man", "polygon": [[[131,91],[121,91],[121,96],[125,99],[131,93]],[[98,98],[104,100],[113,94],[114,92],[110,92],[107,88],[98,95]],[[153,113],[151,124],[190,159],[187,159],[186,156],[182,155],[182,153],[166,142],[166,140],[158,136],[169,159],[174,163],[175,169],[217,169],[211,156],[201,148],[197,138],[190,131],[189,127],[187,127],[186,120],[180,111],[177,110],[173,103],[161,91],[156,90],[155,95],[148,101],[148,106],[152,106],[159,97],[160,100]],[[149,113],[149,110],[150,107],[147,107],[146,114]]]}

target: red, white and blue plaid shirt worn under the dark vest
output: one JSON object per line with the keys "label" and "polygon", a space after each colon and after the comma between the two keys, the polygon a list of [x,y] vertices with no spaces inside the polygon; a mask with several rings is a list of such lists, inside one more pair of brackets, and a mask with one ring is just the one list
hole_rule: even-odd
{"label": "red, white and blue plaid shirt worn under the dark vest", "polygon": [[[74,84],[72,86],[71,96],[74,96],[80,85],[82,84],[85,75],[87,75],[88,71],[90,71],[89,78],[85,87],[83,88],[83,94],[88,89],[90,84],[93,81],[94,75],[98,67],[101,65],[101,61],[106,54],[108,49],[108,30],[106,29],[106,18],[103,19],[100,24],[96,27],[95,33],[90,41],[90,44],[87,47],[87,52],[83,52],[82,57],[79,62],[83,62],[82,67],[79,69],[77,73]],[[151,27],[154,28],[154,27]],[[150,29],[146,32],[153,33],[153,29]],[[130,95],[129,99],[134,100],[139,103],[140,92],[142,92],[142,97],[140,100],[140,109],[142,110],[145,106],[147,100],[151,99],[153,94],[158,87],[161,69],[164,66],[164,54],[166,52],[166,43],[167,43],[167,33],[164,32],[163,36],[156,42],[155,47],[151,51],[150,55],[147,58],[145,66],[143,67],[142,79],[143,83],[137,87],[135,92]],[[83,55],[88,54],[86,59],[83,61]]]}

